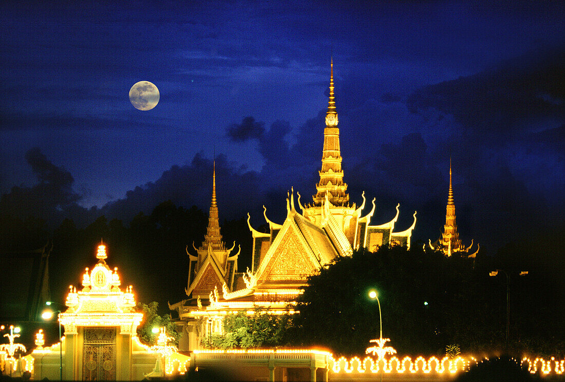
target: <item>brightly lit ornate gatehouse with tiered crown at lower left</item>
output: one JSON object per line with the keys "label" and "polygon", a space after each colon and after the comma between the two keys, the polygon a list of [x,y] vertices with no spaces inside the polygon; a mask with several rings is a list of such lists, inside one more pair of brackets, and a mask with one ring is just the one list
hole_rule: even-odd
{"label": "brightly lit ornate gatehouse with tiered crown at lower left", "polygon": [[[59,344],[34,350],[34,379],[141,380],[154,370],[160,354],[141,344],[137,326],[143,314],[134,311],[132,286],[120,289],[118,268],[106,263],[106,246],[98,246],[98,262],[82,275],[82,290],[69,286],[59,314],[64,337]],[[62,346],[62,348],[60,348]]]}

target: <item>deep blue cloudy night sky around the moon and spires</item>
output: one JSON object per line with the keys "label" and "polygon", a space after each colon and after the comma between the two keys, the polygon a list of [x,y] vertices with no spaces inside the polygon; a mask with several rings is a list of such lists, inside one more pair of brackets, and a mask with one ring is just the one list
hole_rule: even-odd
{"label": "deep blue cloudy night sky around the moon and spires", "polygon": [[[374,224],[439,235],[449,155],[465,241],[563,228],[563,2],[7,2],[2,209],[131,218],[166,199],[220,218],[315,192],[333,44],[345,181]],[[139,111],[137,81],[160,101]],[[16,188],[13,188],[16,186]],[[97,206],[95,209],[90,207]],[[82,207],[86,207],[86,210]],[[223,217],[222,217],[223,216]]]}

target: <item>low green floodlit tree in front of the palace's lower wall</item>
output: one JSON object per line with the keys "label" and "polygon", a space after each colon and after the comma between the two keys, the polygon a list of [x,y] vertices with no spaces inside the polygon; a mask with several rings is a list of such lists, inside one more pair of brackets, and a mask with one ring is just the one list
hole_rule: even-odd
{"label": "low green floodlit tree in front of the palace's lower wall", "polygon": [[257,308],[251,316],[241,311],[228,314],[223,323],[224,334],[203,338],[203,346],[216,349],[249,349],[284,345],[291,320],[289,314],[273,315]]}

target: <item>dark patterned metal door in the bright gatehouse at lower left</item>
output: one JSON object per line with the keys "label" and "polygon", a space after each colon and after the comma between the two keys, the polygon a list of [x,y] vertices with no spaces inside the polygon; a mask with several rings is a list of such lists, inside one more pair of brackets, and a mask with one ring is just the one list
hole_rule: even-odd
{"label": "dark patterned metal door in the bright gatehouse at lower left", "polygon": [[82,380],[116,380],[115,328],[84,328]]}

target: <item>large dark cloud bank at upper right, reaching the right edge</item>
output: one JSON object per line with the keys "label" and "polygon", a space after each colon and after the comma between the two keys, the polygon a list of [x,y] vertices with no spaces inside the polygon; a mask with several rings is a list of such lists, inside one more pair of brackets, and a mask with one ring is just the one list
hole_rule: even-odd
{"label": "large dark cloud bank at upper right, reaching the right edge", "polygon": [[416,90],[411,112],[436,108],[468,133],[497,141],[500,134],[538,128],[534,119],[565,120],[565,46],[531,51],[491,70]]}

